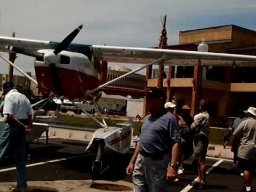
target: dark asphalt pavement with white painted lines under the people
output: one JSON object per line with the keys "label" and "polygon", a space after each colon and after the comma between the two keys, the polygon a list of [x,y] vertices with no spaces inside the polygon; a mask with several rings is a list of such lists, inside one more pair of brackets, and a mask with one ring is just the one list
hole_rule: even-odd
{"label": "dark asphalt pavement with white painted lines under the people", "polygon": [[[94,180],[90,173],[94,154],[91,151],[84,153],[87,143],[54,137],[50,138],[49,144],[44,141],[40,139],[30,143],[28,191],[132,191],[132,179],[125,174],[125,169],[133,151],[109,156],[107,163],[110,168]],[[229,153],[228,149],[226,151]],[[209,174],[204,191],[241,191],[243,178],[238,171],[230,169],[230,159],[207,157],[206,164]],[[185,173],[178,176],[179,181],[170,186],[170,191],[196,190],[189,186],[197,177],[196,166],[189,159],[184,167]],[[15,181],[14,160],[10,156],[0,163],[0,192],[9,191]],[[255,179],[252,187],[256,189]]]}

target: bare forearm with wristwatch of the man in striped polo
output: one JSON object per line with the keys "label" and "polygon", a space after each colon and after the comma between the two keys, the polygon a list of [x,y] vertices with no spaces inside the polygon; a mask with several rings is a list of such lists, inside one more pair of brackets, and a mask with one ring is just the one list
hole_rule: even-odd
{"label": "bare forearm with wristwatch of the man in striped polo", "polygon": [[[175,143],[172,147],[171,165],[177,165],[178,157],[180,154],[180,143]],[[166,180],[167,182],[172,182],[177,176],[177,170],[169,166],[167,168]]]}

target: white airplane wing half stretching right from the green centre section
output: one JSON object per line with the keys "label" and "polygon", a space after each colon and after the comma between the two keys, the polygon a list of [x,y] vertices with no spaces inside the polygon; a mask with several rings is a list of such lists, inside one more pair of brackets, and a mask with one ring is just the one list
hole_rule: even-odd
{"label": "white airplane wing half stretching right from the green centre section", "polygon": [[165,55],[165,65],[195,66],[200,59],[205,66],[256,66],[256,57],[252,55],[102,45],[92,45],[92,48],[95,57],[108,62],[144,64]]}

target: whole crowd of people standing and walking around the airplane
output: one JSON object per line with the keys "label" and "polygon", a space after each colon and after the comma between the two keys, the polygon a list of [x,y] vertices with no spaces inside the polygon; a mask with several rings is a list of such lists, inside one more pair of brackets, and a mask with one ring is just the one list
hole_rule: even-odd
{"label": "whole crowd of people standing and walking around the airplane", "polygon": [[[4,83],[3,90],[4,104],[0,105],[0,111],[5,117],[5,127],[0,133],[0,161],[12,151],[17,166],[17,186],[11,191],[25,192],[26,134],[31,131],[33,109],[26,96],[19,93],[12,82]],[[191,155],[193,164],[197,165],[198,178],[190,185],[205,189],[205,157],[210,132],[207,101],[200,101],[201,112],[193,118],[188,105],[182,106],[179,115],[175,114],[176,105],[166,102],[163,90],[150,90],[147,99],[149,115],[143,121],[140,141],[126,168],[126,173],[132,174],[134,191],[170,191],[170,184],[178,181],[177,175],[185,171],[183,162]],[[225,142],[231,134],[234,135],[231,147],[234,152],[233,166],[243,171],[243,191],[252,191],[252,176],[256,169],[256,108],[239,111],[232,129],[225,132]]]}

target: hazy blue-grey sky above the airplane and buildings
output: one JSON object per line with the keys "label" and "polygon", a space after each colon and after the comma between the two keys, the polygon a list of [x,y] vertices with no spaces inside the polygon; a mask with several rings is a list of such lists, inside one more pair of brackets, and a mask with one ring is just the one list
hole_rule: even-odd
{"label": "hazy blue-grey sky above the airplane and buildings", "polygon": [[[164,14],[170,45],[178,44],[179,31],[184,30],[222,25],[256,30],[255,10],[255,0],[1,0],[0,36],[15,31],[20,38],[60,42],[83,24],[74,43],[153,47]],[[19,54],[15,64],[34,74],[33,58]],[[0,74],[7,72],[7,64],[0,60]]]}

